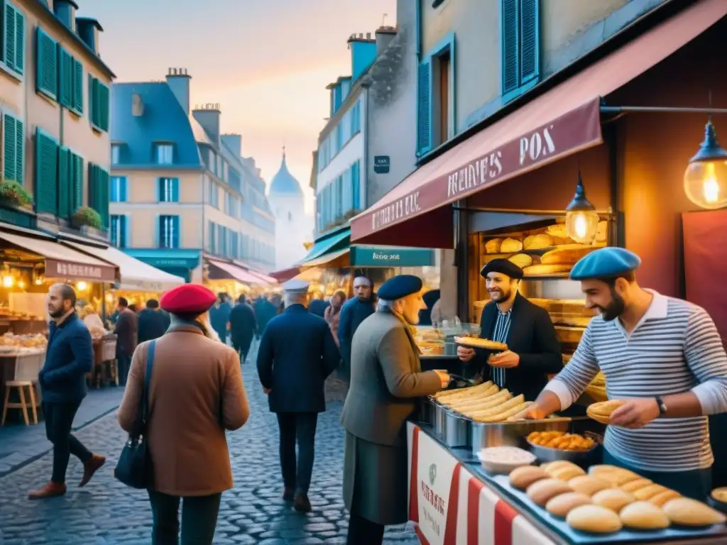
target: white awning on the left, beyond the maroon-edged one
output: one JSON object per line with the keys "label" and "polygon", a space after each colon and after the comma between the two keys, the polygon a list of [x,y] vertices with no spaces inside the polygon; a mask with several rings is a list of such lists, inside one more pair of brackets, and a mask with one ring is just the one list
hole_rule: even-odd
{"label": "white awning on the left, beyond the maroon-edged one", "polygon": [[113,246],[98,248],[71,241],[63,241],[63,244],[117,265],[121,275],[119,289],[122,290],[161,292],[185,283],[185,279],[181,276],[165,273],[163,270],[147,265],[145,262],[135,259]]}

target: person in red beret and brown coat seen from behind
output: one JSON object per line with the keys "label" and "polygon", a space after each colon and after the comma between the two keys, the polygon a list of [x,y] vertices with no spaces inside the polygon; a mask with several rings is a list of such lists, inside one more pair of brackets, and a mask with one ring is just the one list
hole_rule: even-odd
{"label": "person in red beret and brown coat seen from behind", "polygon": [[[180,504],[182,544],[212,544],[220,497],[233,487],[225,429],[242,427],[249,405],[236,352],[209,326],[214,302],[214,293],[196,284],[161,297],[172,324],[155,341],[146,432],[155,545],[178,543]],[[134,352],[119,407],[119,424],[127,432],[137,420],[149,345]]]}

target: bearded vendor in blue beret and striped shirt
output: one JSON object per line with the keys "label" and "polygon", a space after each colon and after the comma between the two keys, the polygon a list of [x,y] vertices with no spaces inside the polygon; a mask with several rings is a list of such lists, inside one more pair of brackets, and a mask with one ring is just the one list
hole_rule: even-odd
{"label": "bearded vendor in blue beret and striped shirt", "polygon": [[611,413],[603,462],[703,500],[713,461],[707,416],[727,411],[727,355],[704,309],[638,285],[640,263],[603,248],[574,265],[586,307],[600,315],[528,416],[567,408],[601,369],[608,398],[625,401]]}

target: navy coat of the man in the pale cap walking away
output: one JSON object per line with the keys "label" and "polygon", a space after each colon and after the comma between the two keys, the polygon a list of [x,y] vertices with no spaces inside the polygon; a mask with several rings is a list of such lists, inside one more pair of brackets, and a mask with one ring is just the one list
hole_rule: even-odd
{"label": "navy coat of the man in the pale cap walking away", "polygon": [[324,382],[340,355],[326,320],[292,304],[268,323],[257,350],[257,372],[273,413],[322,413]]}

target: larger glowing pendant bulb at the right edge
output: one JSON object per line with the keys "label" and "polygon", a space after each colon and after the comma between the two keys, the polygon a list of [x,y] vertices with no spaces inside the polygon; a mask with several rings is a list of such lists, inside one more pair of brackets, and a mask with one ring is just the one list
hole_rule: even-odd
{"label": "larger glowing pendant bulb at the right edge", "polygon": [[696,206],[720,209],[727,206],[727,151],[717,140],[712,119],[704,127],[704,142],[689,159],[684,172],[684,193]]}

